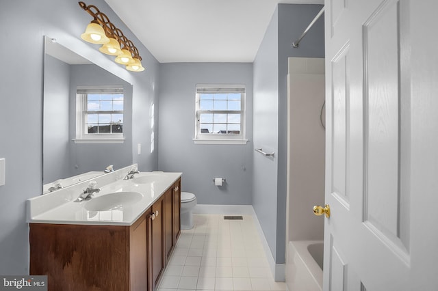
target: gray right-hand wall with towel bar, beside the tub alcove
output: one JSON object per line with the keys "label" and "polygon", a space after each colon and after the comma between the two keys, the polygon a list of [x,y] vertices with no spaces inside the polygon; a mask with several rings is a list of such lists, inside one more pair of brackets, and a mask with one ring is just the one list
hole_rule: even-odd
{"label": "gray right-hand wall with towel bar, beside the tub alcove", "polygon": [[254,61],[254,143],[276,156],[254,154],[253,207],[277,264],[285,262],[287,58],[324,57],[324,18],[291,46],[321,8],[279,4]]}

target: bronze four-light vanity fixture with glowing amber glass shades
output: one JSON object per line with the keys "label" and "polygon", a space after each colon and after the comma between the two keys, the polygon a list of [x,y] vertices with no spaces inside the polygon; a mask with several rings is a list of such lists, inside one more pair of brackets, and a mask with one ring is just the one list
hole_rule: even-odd
{"label": "bronze four-light vanity fixture with glowing amber glass shades", "polygon": [[101,53],[116,55],[116,63],[125,65],[127,70],[132,72],[142,72],[144,70],[138,49],[123,32],[110,22],[108,16],[103,14],[94,5],[86,5],[79,1],[79,6],[94,19],[88,25],[86,32],[81,34],[81,38],[92,44],[103,44],[99,48]]}

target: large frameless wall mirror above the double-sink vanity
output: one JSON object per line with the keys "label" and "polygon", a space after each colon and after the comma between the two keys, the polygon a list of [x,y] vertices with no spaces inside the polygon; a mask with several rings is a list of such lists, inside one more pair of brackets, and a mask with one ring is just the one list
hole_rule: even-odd
{"label": "large frameless wall mirror above the double-sink vanity", "polygon": [[[100,126],[100,130],[107,133],[108,128],[112,127],[115,130],[114,124],[118,124],[117,130],[123,132],[123,139],[116,142],[94,140],[79,143],[75,141],[77,118],[79,118],[77,90],[101,86],[123,89],[123,115],[118,112],[118,115],[114,115],[116,117],[112,117],[106,112],[105,115],[99,115],[99,120],[97,114],[90,115],[86,117],[90,124],[84,125],[85,130],[90,128],[90,132],[93,130],[93,133],[96,133],[96,128]],[[114,169],[120,169],[132,164],[132,85],[130,83],[46,36],[44,37],[43,100],[43,193],[47,192],[47,188],[55,181],[60,180],[62,184],[65,180],[65,183],[71,184],[72,180],[68,178],[73,176],[89,172],[96,175],[104,174],[104,170],[109,165],[113,165]],[[108,100],[101,100],[100,103],[101,110],[110,110],[105,107],[110,104]],[[98,104],[99,100],[96,100],[93,105]],[[120,105],[120,102],[118,104]],[[120,106],[117,109],[120,109]],[[117,120],[112,120],[114,118]],[[75,181],[80,182],[80,180]],[[62,184],[62,186],[68,185]]]}

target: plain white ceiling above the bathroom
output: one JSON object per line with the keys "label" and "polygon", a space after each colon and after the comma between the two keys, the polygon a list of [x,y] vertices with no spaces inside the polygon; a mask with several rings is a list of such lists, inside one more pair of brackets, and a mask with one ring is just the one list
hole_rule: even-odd
{"label": "plain white ceiling above the bathroom", "polygon": [[253,62],[277,3],[324,4],[324,0],[105,1],[160,63]]}

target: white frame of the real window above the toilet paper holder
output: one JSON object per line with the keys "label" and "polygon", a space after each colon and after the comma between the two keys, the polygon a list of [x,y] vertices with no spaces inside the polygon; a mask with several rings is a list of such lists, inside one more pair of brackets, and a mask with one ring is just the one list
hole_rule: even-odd
{"label": "white frame of the real window above the toilet paper holder", "polygon": [[[241,94],[240,100],[240,134],[228,133],[201,133],[199,116],[201,113],[230,113],[231,111],[201,111],[200,95],[202,93],[232,93],[233,91]],[[242,92],[243,91],[243,92]],[[195,101],[195,122],[194,122],[194,143],[196,144],[246,144],[246,86],[244,84],[196,84]]]}

